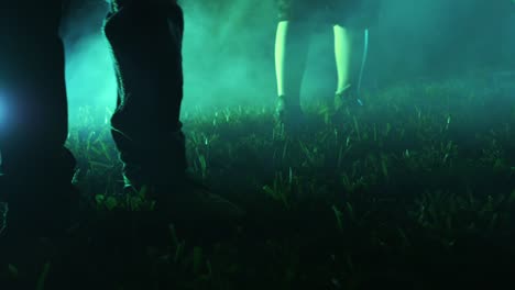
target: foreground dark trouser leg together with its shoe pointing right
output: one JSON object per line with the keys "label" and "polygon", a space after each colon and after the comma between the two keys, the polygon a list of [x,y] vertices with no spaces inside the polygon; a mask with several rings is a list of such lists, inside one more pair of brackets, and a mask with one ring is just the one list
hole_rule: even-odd
{"label": "foreground dark trouser leg together with its shoe pointing right", "polygon": [[[120,1],[106,36],[121,81],[111,124],[124,164],[125,186],[147,189],[162,219],[231,220],[243,211],[186,176],[179,122],[184,19],[174,1]],[[143,81],[145,80],[145,81]]]}

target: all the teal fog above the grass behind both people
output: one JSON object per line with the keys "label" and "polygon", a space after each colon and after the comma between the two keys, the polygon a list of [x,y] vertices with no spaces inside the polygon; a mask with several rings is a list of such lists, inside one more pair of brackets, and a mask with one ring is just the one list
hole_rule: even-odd
{"label": "all the teal fog above the grass behind both people", "polygon": [[[269,105],[275,98],[275,0],[183,0],[185,111]],[[116,83],[102,1],[75,0],[64,20],[72,111],[113,108]],[[332,29],[313,35],[303,98],[331,96],[336,86]],[[360,59],[362,31],[353,59]],[[515,4],[511,0],[385,0],[370,27],[364,82],[375,89],[417,78],[513,70]]]}

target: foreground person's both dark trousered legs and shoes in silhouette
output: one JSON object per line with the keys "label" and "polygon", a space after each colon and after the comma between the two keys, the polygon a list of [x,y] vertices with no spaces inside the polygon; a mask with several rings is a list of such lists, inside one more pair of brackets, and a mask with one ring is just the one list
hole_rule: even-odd
{"label": "foreground person's both dark trousered legs and shoes in silhouette", "polygon": [[[77,211],[75,159],[64,146],[64,9],[58,0],[0,0],[0,104],[8,108],[0,130],[0,199],[8,201],[8,233],[14,235],[59,234]],[[113,137],[124,175],[134,190],[147,187],[171,219],[239,216],[238,207],[186,175],[183,27],[174,0],[118,1],[107,20],[120,80]]]}

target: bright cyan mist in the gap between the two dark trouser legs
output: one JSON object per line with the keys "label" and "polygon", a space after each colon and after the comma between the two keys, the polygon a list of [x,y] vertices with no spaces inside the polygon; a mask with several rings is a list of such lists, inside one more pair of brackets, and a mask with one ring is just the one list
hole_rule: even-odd
{"label": "bright cyan mist in the gap between the two dark trouser legs", "polygon": [[107,12],[107,2],[73,0],[63,20],[61,35],[66,52],[66,87],[73,122],[80,107],[114,109],[114,70],[101,31]]}

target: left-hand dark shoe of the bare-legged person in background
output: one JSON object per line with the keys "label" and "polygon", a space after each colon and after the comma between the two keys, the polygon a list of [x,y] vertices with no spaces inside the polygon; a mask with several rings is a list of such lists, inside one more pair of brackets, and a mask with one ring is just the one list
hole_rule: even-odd
{"label": "left-hand dark shoe of the bare-legged person in background", "polygon": [[284,125],[287,131],[302,127],[305,116],[300,104],[280,96],[275,103],[275,121],[276,124]]}

